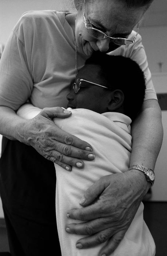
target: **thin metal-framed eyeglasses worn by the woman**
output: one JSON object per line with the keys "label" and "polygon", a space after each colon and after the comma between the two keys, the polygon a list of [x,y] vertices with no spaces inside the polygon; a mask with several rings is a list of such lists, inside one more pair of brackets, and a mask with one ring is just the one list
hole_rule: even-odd
{"label": "thin metal-framed eyeglasses worn by the woman", "polygon": [[[95,29],[94,27],[88,27],[87,25],[87,21],[85,18],[85,0],[84,0],[84,23],[85,23],[85,27],[88,30],[88,33],[91,35],[91,37],[94,37],[96,39],[106,39],[107,37],[109,37],[109,35],[107,35],[106,33],[104,33],[103,31],[99,30],[99,29]],[[116,45],[129,45],[129,44],[134,44],[134,42],[136,41],[136,37],[138,35],[138,31],[139,31],[139,22],[138,22],[138,27],[137,27],[137,33],[134,37],[133,40],[130,40],[128,38],[122,38],[122,37],[109,37],[111,39],[113,39],[113,42]]]}

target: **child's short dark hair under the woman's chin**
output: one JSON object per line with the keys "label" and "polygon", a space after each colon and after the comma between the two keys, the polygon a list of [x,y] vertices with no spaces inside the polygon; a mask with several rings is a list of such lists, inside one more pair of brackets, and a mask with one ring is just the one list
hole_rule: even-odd
{"label": "child's short dark hair under the woman's chin", "polygon": [[146,82],[142,69],[130,58],[95,52],[85,64],[100,67],[98,76],[107,82],[112,91],[124,93],[124,111],[132,120],[137,116],[144,101]]}

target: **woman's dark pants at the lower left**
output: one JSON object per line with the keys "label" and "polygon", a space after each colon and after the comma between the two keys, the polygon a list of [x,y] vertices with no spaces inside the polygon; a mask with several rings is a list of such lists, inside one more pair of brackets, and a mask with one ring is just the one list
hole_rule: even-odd
{"label": "woman's dark pants at the lower left", "polygon": [[12,256],[61,255],[55,167],[37,151],[3,138],[0,195]]}

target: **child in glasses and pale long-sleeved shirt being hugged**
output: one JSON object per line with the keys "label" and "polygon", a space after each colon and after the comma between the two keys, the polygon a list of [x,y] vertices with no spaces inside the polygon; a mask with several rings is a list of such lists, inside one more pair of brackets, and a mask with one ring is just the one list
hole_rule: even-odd
{"label": "child in glasses and pale long-sleeved shirt being hugged", "polygon": [[[125,172],[131,155],[130,124],[142,107],[145,93],[144,75],[138,64],[122,56],[95,53],[78,72],[67,95],[69,118],[54,118],[56,125],[91,144],[96,158],[84,161],[84,169],[73,167],[67,172],[56,168],[56,219],[63,256],[97,256],[104,244],[77,249],[81,235],[68,234],[65,226],[79,223],[67,218],[71,208],[87,188],[100,177]],[[24,107],[23,107],[24,108]],[[29,107],[32,109],[32,107]],[[29,110],[28,110],[29,111]],[[34,117],[40,112],[35,108]],[[34,112],[35,112],[34,111]],[[25,113],[18,114],[25,117]],[[154,240],[143,220],[143,204],[112,256],[153,256]]]}

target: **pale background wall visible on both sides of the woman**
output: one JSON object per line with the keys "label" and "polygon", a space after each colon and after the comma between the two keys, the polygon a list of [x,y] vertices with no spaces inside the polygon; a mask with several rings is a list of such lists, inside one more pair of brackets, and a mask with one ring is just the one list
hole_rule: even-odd
{"label": "pale background wall visible on both sides of the woman", "polygon": [[[6,44],[21,14],[29,10],[74,10],[72,0],[0,0],[0,43]],[[139,26],[157,93],[167,93],[167,0],[154,0]],[[157,159],[153,201],[167,201],[167,111],[162,111],[163,145]],[[0,136],[1,140],[1,136]],[[0,218],[3,211],[0,201]]]}

